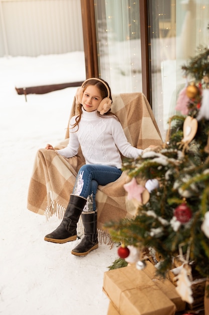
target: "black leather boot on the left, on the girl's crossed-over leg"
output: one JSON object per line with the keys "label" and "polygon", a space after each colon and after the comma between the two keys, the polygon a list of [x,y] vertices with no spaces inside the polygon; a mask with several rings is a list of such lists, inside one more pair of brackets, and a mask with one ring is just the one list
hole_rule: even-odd
{"label": "black leather boot on the left, on the girl's crossed-over leg", "polygon": [[44,238],[53,243],[66,243],[77,239],[77,223],[86,204],[86,199],[71,194],[70,201],[65,211],[61,224]]}

